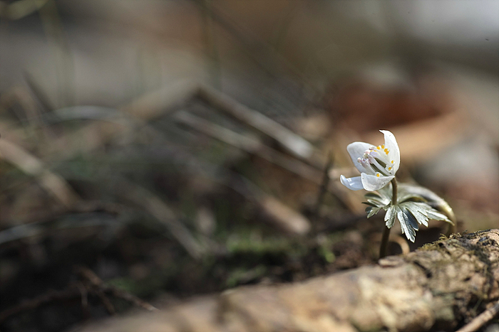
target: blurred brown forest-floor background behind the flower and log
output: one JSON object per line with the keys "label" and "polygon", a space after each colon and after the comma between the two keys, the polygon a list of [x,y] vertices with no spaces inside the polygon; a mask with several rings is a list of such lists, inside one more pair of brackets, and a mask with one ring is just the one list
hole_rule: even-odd
{"label": "blurred brown forest-floor background behind the flower and log", "polygon": [[[357,173],[346,145],[381,144],[379,129],[399,181],[446,198],[460,232],[498,227],[498,13],[0,1],[1,331],[376,262],[383,216],[339,176]],[[413,245],[396,225],[390,250],[443,232]]]}

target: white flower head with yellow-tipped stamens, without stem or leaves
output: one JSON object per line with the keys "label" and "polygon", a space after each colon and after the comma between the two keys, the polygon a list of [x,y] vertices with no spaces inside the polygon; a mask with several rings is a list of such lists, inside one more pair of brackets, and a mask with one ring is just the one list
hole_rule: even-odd
{"label": "white flower head with yellow-tipped stamens, without stem or leaves", "polygon": [[377,191],[386,186],[394,177],[400,166],[400,150],[395,136],[388,130],[380,130],[385,135],[385,144],[374,146],[369,143],[355,141],[346,146],[351,161],[361,172],[361,176],[345,178],[340,176],[341,183],[352,191],[366,189]]}

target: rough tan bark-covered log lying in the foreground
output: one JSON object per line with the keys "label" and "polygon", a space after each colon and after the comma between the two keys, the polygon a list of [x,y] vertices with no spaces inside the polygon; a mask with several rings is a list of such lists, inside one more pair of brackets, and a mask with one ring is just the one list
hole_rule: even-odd
{"label": "rough tan bark-covered log lying in the foreground", "polygon": [[449,331],[499,299],[499,230],[453,236],[376,266],[241,287],[80,331]]}

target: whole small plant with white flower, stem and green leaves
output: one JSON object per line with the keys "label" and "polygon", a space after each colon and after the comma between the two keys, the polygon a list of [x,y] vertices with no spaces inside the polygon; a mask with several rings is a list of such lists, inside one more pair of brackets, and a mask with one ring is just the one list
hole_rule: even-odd
{"label": "whole small plant with white flower, stem and green leaves", "polygon": [[[340,176],[341,183],[353,191],[365,189],[367,218],[371,218],[381,209],[386,211],[386,228],[383,232],[379,256],[386,256],[390,229],[395,219],[401,225],[402,233],[414,242],[419,225],[428,226],[428,220],[445,220],[454,225],[455,217],[448,203],[432,191],[396,181],[396,172],[400,166],[400,150],[395,136],[388,130],[380,130],[385,136],[385,144],[374,146],[356,141],[346,146],[351,161],[361,172],[361,176],[346,178]],[[377,191],[377,193],[372,193]],[[438,209],[438,210],[437,210]]]}

